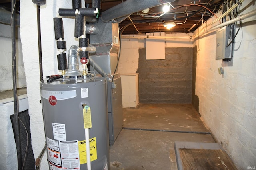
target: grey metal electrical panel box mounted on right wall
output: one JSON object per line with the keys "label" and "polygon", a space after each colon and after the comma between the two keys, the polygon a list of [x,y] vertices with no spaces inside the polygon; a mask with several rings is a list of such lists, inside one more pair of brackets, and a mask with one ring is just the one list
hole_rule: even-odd
{"label": "grey metal electrical panel box mounted on right wall", "polygon": [[231,45],[228,45],[231,39],[231,27],[223,27],[216,31],[216,60],[231,59]]}

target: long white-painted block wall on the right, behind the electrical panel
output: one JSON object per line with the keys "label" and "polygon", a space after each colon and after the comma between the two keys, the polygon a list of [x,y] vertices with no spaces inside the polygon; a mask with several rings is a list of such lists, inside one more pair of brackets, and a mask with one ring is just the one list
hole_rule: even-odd
{"label": "long white-painted block wall on the right, behind the electrical panel", "polygon": [[[255,7],[244,1],[240,10],[244,14]],[[208,25],[214,19],[209,20]],[[253,16],[242,22],[255,19]],[[235,39],[234,58],[230,63],[215,60],[216,31],[194,42],[198,53],[196,95],[199,112],[238,169],[256,166],[255,27],[255,21],[243,24]],[[223,76],[218,74],[218,67],[224,68]]]}

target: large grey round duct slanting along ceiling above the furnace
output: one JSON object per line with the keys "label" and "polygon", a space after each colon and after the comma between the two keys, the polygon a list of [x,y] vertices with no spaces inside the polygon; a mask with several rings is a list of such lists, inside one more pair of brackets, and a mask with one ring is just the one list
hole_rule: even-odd
{"label": "large grey round duct slanting along ceiling above the furnace", "polygon": [[104,22],[108,22],[110,20],[120,18],[122,16],[127,16],[146,8],[152,8],[154,6],[174,1],[175,0],[127,0],[102,12],[101,19]]}

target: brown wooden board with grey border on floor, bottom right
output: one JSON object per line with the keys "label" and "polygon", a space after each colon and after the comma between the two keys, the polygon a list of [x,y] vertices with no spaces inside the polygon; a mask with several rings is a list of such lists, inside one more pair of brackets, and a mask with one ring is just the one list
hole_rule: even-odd
{"label": "brown wooden board with grey border on floor, bottom right", "polygon": [[176,142],[175,153],[179,170],[237,170],[217,143]]}

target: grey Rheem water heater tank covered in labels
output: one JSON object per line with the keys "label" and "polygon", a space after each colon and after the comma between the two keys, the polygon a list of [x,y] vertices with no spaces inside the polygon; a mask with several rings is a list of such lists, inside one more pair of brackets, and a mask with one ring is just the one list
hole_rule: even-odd
{"label": "grey Rheem water heater tank covered in labels", "polygon": [[109,168],[106,78],[58,79],[40,82],[50,170],[87,170],[84,107],[90,109],[92,170]]}

